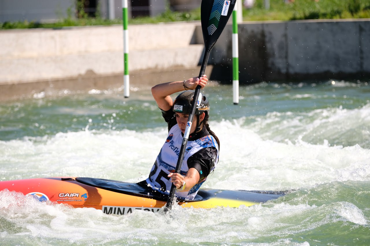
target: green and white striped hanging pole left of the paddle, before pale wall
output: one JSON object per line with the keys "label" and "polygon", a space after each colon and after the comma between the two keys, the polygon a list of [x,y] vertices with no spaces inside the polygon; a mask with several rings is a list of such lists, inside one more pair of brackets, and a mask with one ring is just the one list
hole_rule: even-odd
{"label": "green and white striped hanging pole left of the paddle, before pale wall", "polygon": [[130,77],[128,73],[128,3],[122,0],[122,20],[123,20],[123,94],[125,97],[130,96]]}

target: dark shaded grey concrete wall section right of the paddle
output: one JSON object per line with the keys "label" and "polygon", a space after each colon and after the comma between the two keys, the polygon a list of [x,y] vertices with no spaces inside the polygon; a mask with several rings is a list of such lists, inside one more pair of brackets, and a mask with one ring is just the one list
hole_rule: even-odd
{"label": "dark shaded grey concrete wall section right of the paddle", "polygon": [[[217,77],[232,73],[231,27],[214,49]],[[252,22],[238,26],[239,80],[361,79],[370,77],[370,20]],[[216,74],[214,74],[216,75]]]}

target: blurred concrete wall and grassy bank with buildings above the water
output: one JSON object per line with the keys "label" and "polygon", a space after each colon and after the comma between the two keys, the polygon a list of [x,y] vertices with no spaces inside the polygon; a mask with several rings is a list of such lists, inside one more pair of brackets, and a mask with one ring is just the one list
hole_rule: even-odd
{"label": "blurred concrete wall and grassy bank with buildings above the water", "polygon": [[[51,90],[130,90],[183,80],[203,54],[196,0],[1,0],[0,100]],[[370,77],[369,0],[238,0],[239,83],[364,80]],[[171,34],[169,36],[169,34]],[[232,21],[206,73],[231,84]],[[154,82],[155,81],[155,82]]]}

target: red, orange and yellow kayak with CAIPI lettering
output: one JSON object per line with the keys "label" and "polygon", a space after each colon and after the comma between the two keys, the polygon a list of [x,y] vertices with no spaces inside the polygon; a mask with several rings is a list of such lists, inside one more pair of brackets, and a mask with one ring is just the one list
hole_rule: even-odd
{"label": "red, orange and yellow kayak with CAIPI lettering", "polygon": [[[134,210],[158,212],[166,204],[164,195],[140,183],[99,178],[55,177],[1,181],[0,191],[33,195],[41,202],[68,204],[74,208],[95,208],[106,214],[124,215]],[[177,198],[184,208],[252,206],[277,199],[286,192],[199,189],[194,200]]]}

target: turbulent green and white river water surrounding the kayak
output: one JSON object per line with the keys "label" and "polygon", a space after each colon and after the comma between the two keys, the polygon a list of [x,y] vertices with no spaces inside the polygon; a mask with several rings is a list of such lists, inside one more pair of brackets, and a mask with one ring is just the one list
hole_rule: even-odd
{"label": "turbulent green and white river water surrounding the kayak", "polygon": [[[220,160],[203,188],[291,191],[239,208],[106,215],[0,191],[3,245],[369,245],[370,82],[209,86]],[[166,138],[149,90],[0,105],[0,179],[145,179]]]}

